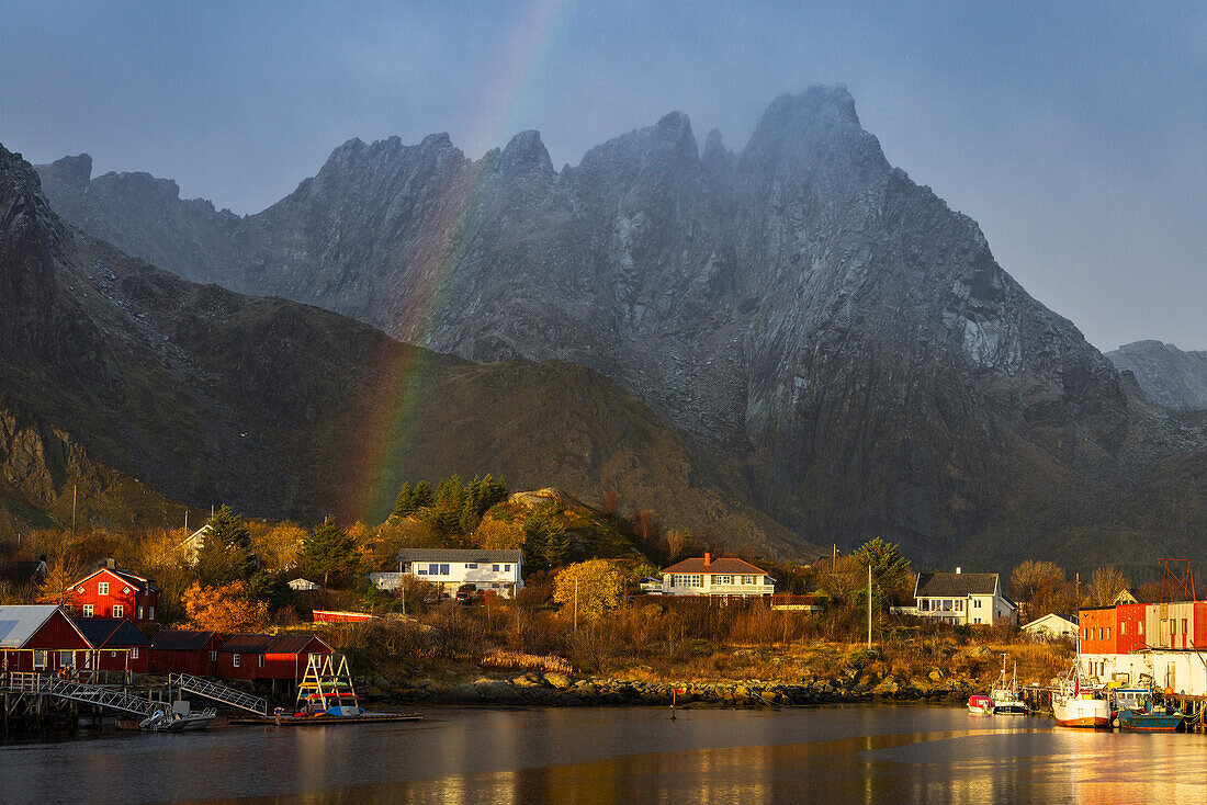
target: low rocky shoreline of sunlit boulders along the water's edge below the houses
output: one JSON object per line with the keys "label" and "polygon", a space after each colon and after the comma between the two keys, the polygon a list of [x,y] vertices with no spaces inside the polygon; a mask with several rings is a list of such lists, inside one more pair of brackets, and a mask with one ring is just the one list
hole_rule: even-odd
{"label": "low rocky shoreline of sunlit boulders along the water's edge below the houses", "polygon": [[762,707],[823,705],[855,701],[923,700],[963,701],[980,689],[968,678],[945,678],[933,669],[926,678],[887,676],[875,684],[850,675],[799,682],[763,679],[639,682],[608,677],[573,677],[566,673],[483,676],[449,683],[435,679],[368,678],[358,693],[368,704],[489,704],[536,706],[669,706],[675,690],[683,707]]}

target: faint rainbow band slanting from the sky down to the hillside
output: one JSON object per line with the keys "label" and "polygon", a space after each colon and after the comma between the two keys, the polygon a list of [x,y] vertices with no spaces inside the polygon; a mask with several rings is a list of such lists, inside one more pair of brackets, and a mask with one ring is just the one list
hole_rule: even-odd
{"label": "faint rainbow band slanting from the sky down to the hillside", "polygon": [[[537,94],[535,84],[546,71],[571,5],[571,0],[532,0],[521,7],[502,39],[494,74],[497,86],[486,93],[488,103],[471,128],[473,140],[502,144],[521,128],[520,122],[531,112],[529,101]],[[395,323],[396,332],[408,333],[415,344],[427,343],[445,282],[473,239],[477,223],[471,211],[480,193],[477,171],[467,171],[466,180],[454,183],[437,205],[441,212],[424,234],[422,253],[407,255],[419,270],[409,272],[409,287],[397,290]],[[430,364],[431,358],[420,350],[385,350],[380,361],[383,386],[357,428],[360,449],[352,451],[352,467],[345,473],[348,502],[342,508],[351,518],[372,523],[393,502],[403,478],[391,456],[397,455],[412,431]]]}

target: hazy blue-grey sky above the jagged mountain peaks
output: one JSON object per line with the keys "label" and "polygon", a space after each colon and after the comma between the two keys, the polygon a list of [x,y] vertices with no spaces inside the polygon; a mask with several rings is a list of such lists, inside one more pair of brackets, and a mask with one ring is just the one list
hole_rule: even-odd
{"label": "hazy blue-grey sky above the jagged mountain peaks", "polygon": [[960,2],[16,4],[0,142],[257,211],[351,136],[541,130],[554,162],[671,110],[739,150],[846,83],[888,159],[974,217],[1101,349],[1207,349],[1207,6]]}

